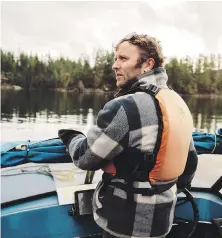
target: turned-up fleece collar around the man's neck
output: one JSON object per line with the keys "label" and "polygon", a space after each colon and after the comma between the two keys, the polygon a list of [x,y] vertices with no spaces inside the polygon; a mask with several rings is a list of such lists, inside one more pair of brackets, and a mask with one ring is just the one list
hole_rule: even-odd
{"label": "turned-up fleece collar around the man's neck", "polygon": [[163,67],[155,68],[148,72],[139,75],[135,79],[131,79],[121,88],[114,97],[123,96],[129,94],[132,91],[143,90],[147,88],[150,84],[155,85],[159,88],[168,88],[167,86],[168,76],[166,70]]}

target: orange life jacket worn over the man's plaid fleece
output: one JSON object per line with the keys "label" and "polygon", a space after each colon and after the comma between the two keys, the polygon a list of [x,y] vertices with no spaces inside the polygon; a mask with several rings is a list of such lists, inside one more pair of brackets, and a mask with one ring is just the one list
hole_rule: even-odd
{"label": "orange life jacket worn over the man's plaid fleece", "polygon": [[[185,168],[192,137],[193,120],[183,99],[173,90],[150,85],[145,92],[158,101],[162,114],[162,135],[158,151],[154,154],[155,164],[147,179],[167,181],[179,177]],[[105,173],[115,175],[116,168],[111,162],[103,168]]]}

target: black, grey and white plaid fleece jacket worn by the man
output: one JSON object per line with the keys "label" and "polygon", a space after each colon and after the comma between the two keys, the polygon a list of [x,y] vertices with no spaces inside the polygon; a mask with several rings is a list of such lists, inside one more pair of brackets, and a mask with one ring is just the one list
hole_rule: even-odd
{"label": "black, grey and white plaid fleece jacket worn by the man", "polygon": [[[149,84],[166,88],[166,82],[165,69],[157,68],[141,75],[136,84],[139,88]],[[152,152],[157,131],[158,117],[154,99],[144,92],[129,92],[104,106],[98,114],[97,124],[88,131],[87,137],[74,131],[64,135],[60,133],[60,138],[76,166],[83,170],[97,170],[132,147],[142,152]],[[192,135],[190,137],[192,140]],[[191,143],[188,161],[196,161],[195,156]],[[124,159],[127,166],[127,158]],[[185,180],[187,175],[194,174],[195,163],[185,169]],[[123,179],[115,181],[125,183]],[[133,182],[133,186],[150,188],[151,184]],[[172,227],[176,194],[177,187],[174,185],[153,196],[134,194],[133,202],[128,203],[125,191],[115,186],[108,186],[104,190],[101,181],[93,197],[93,216],[102,229],[117,237],[162,237]]]}

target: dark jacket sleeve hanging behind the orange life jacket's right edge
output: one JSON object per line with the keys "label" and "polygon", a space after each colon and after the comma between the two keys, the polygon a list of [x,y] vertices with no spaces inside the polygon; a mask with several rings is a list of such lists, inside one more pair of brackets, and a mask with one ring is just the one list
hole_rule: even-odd
{"label": "dark jacket sleeve hanging behind the orange life jacket's right edge", "polygon": [[178,189],[183,189],[185,187],[191,186],[191,182],[197,169],[197,164],[198,164],[198,157],[192,138],[184,172],[179,176],[177,181]]}

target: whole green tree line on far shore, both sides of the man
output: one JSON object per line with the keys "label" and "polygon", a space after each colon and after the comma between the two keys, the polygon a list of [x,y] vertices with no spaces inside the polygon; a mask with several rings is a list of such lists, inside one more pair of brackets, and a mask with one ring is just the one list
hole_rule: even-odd
{"label": "whole green tree line on far shore, both sides of the man", "polygon": [[[24,89],[85,89],[115,90],[112,71],[114,53],[98,50],[94,65],[88,57],[77,61],[60,57],[41,60],[37,55],[24,52],[15,55],[1,50],[2,83],[18,85]],[[199,55],[166,60],[168,85],[181,94],[212,94],[222,92],[222,58],[220,54]]]}

